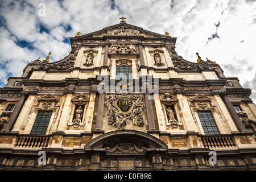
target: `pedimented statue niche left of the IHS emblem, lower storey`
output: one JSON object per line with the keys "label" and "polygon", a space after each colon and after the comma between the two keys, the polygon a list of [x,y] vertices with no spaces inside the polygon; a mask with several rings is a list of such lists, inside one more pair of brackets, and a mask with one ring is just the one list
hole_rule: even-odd
{"label": "pedimented statue niche left of the IHS emblem, lower storey", "polygon": [[71,100],[71,114],[68,121],[68,126],[79,127],[85,125],[85,114],[89,104],[89,98],[84,94],[79,94]]}

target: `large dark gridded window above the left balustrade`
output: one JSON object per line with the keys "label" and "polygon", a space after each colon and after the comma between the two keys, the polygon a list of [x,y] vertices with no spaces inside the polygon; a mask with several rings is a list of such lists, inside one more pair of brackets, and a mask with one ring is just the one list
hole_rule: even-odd
{"label": "large dark gridded window above the left balustrade", "polygon": [[35,123],[30,134],[44,135],[46,134],[52,111],[38,111]]}

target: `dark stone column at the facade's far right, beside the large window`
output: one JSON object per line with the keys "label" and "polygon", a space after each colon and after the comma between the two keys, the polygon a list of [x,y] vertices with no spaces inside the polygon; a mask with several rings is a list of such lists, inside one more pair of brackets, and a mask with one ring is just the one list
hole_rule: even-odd
{"label": "dark stone column at the facade's far right, beside the large window", "polygon": [[232,118],[234,119],[234,122],[236,123],[238,130],[240,130],[240,132],[246,132],[245,126],[243,126],[243,123],[240,119],[240,117],[237,114],[237,111],[234,109],[233,104],[230,102],[228,96],[225,93],[221,94],[221,97],[223,99],[223,101],[226,104],[226,107],[228,107],[228,110],[230,112],[230,114],[232,115]]}

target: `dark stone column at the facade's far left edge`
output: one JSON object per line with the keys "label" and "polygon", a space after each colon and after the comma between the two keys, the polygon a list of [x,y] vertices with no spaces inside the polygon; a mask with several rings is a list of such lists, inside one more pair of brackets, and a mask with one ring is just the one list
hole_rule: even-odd
{"label": "dark stone column at the facade's far left edge", "polygon": [[24,105],[24,103],[26,102],[27,99],[27,95],[26,94],[22,94],[22,97],[20,97],[17,105],[15,106],[13,113],[11,114],[11,117],[9,119],[9,121],[6,123],[5,128],[3,129],[2,132],[4,133],[10,133],[11,129],[13,129],[13,126],[16,122],[16,119],[19,116],[20,111],[22,110],[22,107]]}

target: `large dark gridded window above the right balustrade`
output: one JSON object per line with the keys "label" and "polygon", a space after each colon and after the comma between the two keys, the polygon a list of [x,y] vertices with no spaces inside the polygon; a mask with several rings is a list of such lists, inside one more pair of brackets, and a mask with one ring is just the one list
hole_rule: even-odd
{"label": "large dark gridded window above the right balustrade", "polygon": [[205,135],[218,135],[218,127],[212,117],[210,111],[197,111],[201,125],[203,126]]}

